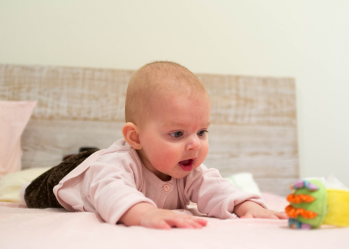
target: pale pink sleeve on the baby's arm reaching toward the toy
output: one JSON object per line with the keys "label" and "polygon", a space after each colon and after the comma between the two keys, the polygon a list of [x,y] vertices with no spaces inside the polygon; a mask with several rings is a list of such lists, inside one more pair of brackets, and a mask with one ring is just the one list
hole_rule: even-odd
{"label": "pale pink sleeve on the baby's arm reaching toward the toy", "polygon": [[240,190],[223,179],[218,169],[207,169],[205,165],[186,176],[184,196],[187,201],[198,204],[201,213],[221,219],[237,218],[234,207],[246,200],[267,208],[259,195]]}

